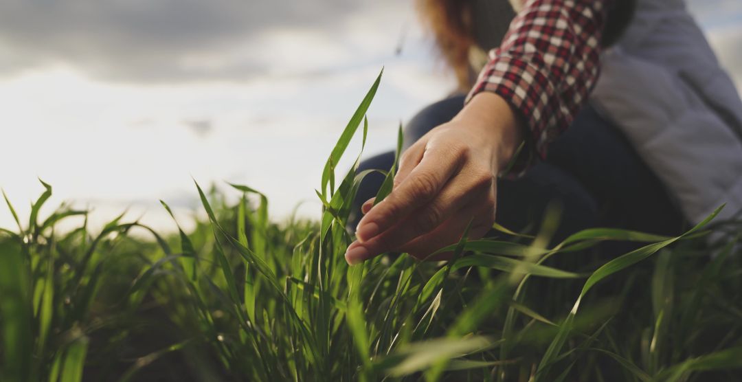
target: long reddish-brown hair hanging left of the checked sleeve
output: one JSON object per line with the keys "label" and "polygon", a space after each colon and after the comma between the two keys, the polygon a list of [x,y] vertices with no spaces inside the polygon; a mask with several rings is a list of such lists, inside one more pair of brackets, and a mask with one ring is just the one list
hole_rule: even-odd
{"label": "long reddish-brown hair hanging left of the checked sleeve", "polygon": [[417,0],[424,27],[433,33],[436,47],[451,67],[461,90],[470,86],[469,48],[474,44],[471,0]]}

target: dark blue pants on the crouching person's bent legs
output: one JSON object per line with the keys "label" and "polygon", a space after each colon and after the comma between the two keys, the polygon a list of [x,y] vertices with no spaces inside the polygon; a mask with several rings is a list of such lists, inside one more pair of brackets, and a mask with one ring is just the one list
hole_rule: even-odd
{"label": "dark blue pants on the crouching person's bent legs", "polygon": [[[405,147],[450,121],[463,105],[463,96],[453,96],[418,113],[405,128]],[[393,152],[381,154],[361,162],[359,171],[388,170],[393,161]],[[383,180],[381,174],[372,174],[361,183],[350,223],[354,228],[359,206],[375,196]],[[591,227],[654,234],[677,234],[684,228],[664,186],[626,137],[590,106],[549,146],[544,162],[517,180],[498,181],[496,220],[516,231],[533,232],[552,202],[562,207],[555,239]]]}

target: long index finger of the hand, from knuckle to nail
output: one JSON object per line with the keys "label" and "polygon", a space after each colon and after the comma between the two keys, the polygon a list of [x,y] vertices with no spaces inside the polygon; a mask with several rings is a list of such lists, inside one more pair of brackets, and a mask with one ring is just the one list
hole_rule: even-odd
{"label": "long index finger of the hand, from knuckle to nail", "polygon": [[417,208],[433,200],[459,167],[461,153],[428,148],[418,165],[397,188],[368,211],[355,235],[361,243],[387,231]]}

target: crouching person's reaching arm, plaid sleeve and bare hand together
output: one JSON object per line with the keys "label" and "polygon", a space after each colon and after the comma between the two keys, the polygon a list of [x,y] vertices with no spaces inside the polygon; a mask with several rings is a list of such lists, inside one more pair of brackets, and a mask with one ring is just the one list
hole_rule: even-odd
{"label": "crouching person's reaching arm, plaid sleeve and bare hand together", "polygon": [[456,243],[470,221],[470,237],[489,231],[496,177],[522,137],[545,155],[593,87],[605,1],[525,4],[461,113],[407,149],[389,197],[364,205],[349,263],[387,251],[424,258]]}

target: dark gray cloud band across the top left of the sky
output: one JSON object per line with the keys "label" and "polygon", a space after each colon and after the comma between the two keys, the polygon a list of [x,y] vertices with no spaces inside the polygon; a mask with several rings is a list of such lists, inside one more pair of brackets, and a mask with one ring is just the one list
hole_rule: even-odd
{"label": "dark gray cloud band across the top left of the sky", "polygon": [[[370,0],[0,0],[0,76],[63,64],[102,79],[162,82],[249,79],[250,56],[217,67],[188,65],[260,47],[266,30],[332,36]],[[257,55],[256,55],[257,56]]]}

